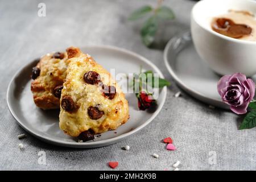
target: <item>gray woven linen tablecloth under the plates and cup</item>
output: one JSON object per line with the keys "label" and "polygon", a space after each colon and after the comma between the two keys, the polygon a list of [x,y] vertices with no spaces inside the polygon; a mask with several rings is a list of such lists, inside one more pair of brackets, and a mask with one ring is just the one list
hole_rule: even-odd
{"label": "gray woven linen tablecloth under the plates and cup", "polygon": [[[46,17],[38,16],[38,3],[46,3]],[[109,161],[119,170],[256,169],[256,129],[238,130],[241,119],[229,111],[210,109],[188,94],[175,98],[180,89],[163,63],[163,45],[189,29],[194,1],[166,0],[176,14],[174,22],[160,26],[156,48],[145,47],[139,36],[141,21],[127,16],[137,7],[156,1],[0,1],[0,169],[108,170]],[[6,104],[6,90],[14,73],[33,55],[69,46],[111,45],[139,53],[151,60],[172,82],[162,111],[142,131],[111,146],[92,149],[57,147],[41,142],[18,126]],[[18,140],[17,135],[28,137]],[[172,137],[176,151],[160,142]],[[20,151],[18,144],[24,144]],[[121,148],[130,146],[129,151]],[[46,165],[38,152],[46,152]],[[158,159],[152,154],[158,154]]]}

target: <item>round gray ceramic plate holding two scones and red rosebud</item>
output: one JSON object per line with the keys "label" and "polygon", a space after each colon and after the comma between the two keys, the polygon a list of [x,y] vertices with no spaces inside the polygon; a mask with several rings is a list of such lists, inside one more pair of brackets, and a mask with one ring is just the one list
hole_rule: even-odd
{"label": "round gray ceramic plate holding two scones and red rosebud", "polygon": [[[159,69],[150,61],[125,49],[97,46],[82,47],[81,50],[88,52],[109,71],[114,68],[115,73],[138,73],[139,67],[142,65],[144,70],[152,70],[163,77]],[[126,94],[129,101],[129,121],[117,130],[102,133],[100,138],[96,137],[88,142],[77,143],[75,138],[68,137],[59,129],[59,110],[43,111],[35,106],[30,91],[31,69],[35,65],[36,61],[26,65],[15,74],[7,90],[7,104],[23,129],[45,142],[59,146],[91,148],[106,146],[123,140],[148,125],[162,109],[166,100],[167,88],[163,88],[160,90],[157,100],[157,109],[154,113],[148,113],[138,110],[137,98],[134,94]]]}

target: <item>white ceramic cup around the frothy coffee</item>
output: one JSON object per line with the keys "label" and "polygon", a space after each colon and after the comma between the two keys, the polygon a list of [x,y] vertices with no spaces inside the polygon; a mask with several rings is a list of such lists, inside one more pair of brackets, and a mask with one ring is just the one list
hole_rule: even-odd
{"label": "white ceramic cup around the frothy coffee", "polygon": [[196,51],[220,75],[241,72],[253,76],[256,74],[256,42],[230,38],[212,30],[212,19],[228,10],[255,14],[256,1],[203,0],[196,3],[191,12],[191,34]]}

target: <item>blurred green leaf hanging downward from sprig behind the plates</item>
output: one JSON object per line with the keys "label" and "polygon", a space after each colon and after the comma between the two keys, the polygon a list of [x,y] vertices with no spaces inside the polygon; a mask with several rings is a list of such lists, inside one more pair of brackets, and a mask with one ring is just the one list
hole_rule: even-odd
{"label": "blurred green leaf hanging downward from sprig behind the plates", "polygon": [[142,41],[146,46],[150,46],[155,40],[155,34],[158,24],[155,16],[151,16],[144,24],[141,30]]}

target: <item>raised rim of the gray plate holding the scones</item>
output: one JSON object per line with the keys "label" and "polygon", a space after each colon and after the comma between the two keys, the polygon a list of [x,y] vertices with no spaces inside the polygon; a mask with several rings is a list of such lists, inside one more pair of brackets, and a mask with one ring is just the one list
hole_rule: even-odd
{"label": "raised rim of the gray plate holding the scones", "polygon": [[[138,53],[129,51],[127,49],[124,48],[119,48],[119,47],[114,47],[114,46],[81,46],[81,48],[101,48],[101,49],[110,49],[112,51],[119,51],[122,53],[126,53],[127,55],[131,55],[131,56],[135,56],[138,57],[138,59],[142,60],[144,63],[150,65],[150,67],[152,67],[157,73],[159,73],[159,76],[164,78],[163,73],[160,71],[160,69],[158,67],[156,67],[155,64],[151,63],[150,60],[146,59],[146,57],[143,57],[141,55],[139,55]],[[22,68],[20,68],[15,74],[14,76],[11,78],[11,81],[9,82],[8,88],[7,88],[7,93],[6,93],[6,102],[7,102],[7,106],[9,107],[9,110],[11,112],[11,114],[13,115],[13,117],[15,118],[15,120],[18,122],[18,124],[24,129],[26,130],[28,133],[30,133],[31,135],[33,135],[34,137],[43,140],[44,142],[47,143],[51,143],[51,144],[56,144],[57,146],[64,146],[64,147],[74,147],[74,148],[94,148],[94,147],[102,147],[102,146],[107,146],[116,142],[119,142],[127,137],[130,137],[131,135],[137,133],[138,131],[140,131],[141,129],[143,129],[145,126],[147,126],[155,117],[156,115],[159,114],[160,110],[162,109],[164,102],[166,101],[166,97],[167,97],[167,87],[165,86],[161,92],[163,92],[163,102],[161,102],[158,105],[158,109],[156,109],[156,111],[152,114],[152,116],[146,121],[144,122],[141,126],[135,128],[134,130],[131,130],[125,134],[121,134],[117,137],[114,138],[110,138],[110,139],[105,139],[105,140],[100,140],[100,141],[96,141],[96,142],[90,142],[90,143],[78,143],[78,142],[68,142],[68,141],[62,141],[62,140],[56,140],[56,139],[52,139],[51,137],[47,137],[47,136],[42,136],[40,134],[35,133],[34,131],[28,129],[28,127],[26,125],[23,124],[22,121],[20,121],[19,117],[15,114],[15,111],[13,110],[13,107],[10,104],[10,89],[11,89],[11,84],[14,82],[14,79],[19,75],[20,72],[23,71],[24,68],[27,67],[28,64],[31,64],[31,62],[27,63],[26,65],[24,65]]]}

